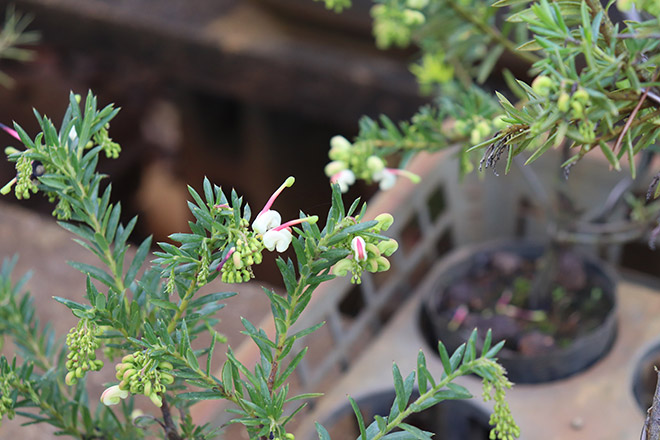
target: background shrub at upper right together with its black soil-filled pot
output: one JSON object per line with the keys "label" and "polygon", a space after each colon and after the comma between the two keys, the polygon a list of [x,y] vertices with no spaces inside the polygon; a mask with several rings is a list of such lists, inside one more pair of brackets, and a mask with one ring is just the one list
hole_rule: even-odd
{"label": "background shrub at upper right together with its black soil-filled pot", "polygon": [[[326,3],[336,7],[338,2]],[[655,89],[657,40],[651,31],[658,23],[655,4],[376,3],[372,8],[376,43],[384,48],[416,44],[421,55],[411,71],[434,101],[399,124],[385,116],[364,118],[352,142],[333,138],[326,174],[343,190],[355,179],[387,189],[397,178],[417,179],[402,169],[417,152],[450,147],[456,151],[462,175],[476,168],[509,173],[519,165],[525,184],[536,194],[534,201],[549,213],[548,244],[531,254],[512,252],[509,244],[497,251],[480,249],[469,258],[453,257],[460,261],[447,264],[447,272],[457,284],[452,288],[449,281],[439,282],[440,291],[431,293],[428,327],[435,330],[433,339],[438,331],[446,336],[442,331],[493,327],[498,339],[508,337],[512,348],[522,352],[563,353],[557,361],[543,358],[541,369],[548,368],[540,379],[519,376],[521,381],[572,374],[575,369],[555,371],[553,362],[568,365],[566,359],[585,351],[581,347],[597,346],[598,353],[578,362],[576,369],[590,365],[607,351],[615,335],[613,281],[607,269],[566,253],[566,248],[576,243],[623,242],[649,231],[652,245],[660,231],[658,203],[653,202],[660,194],[660,177],[647,175],[660,116]],[[622,13],[627,14],[625,22]],[[553,197],[550,184],[528,168],[551,151],[561,157],[558,177],[563,174],[570,180],[570,170],[594,155],[604,157],[603,162],[616,171],[627,162],[630,177],[606,190],[604,206],[580,216],[561,179]],[[390,167],[395,161],[399,168]],[[647,190],[641,200],[635,199],[635,184],[642,180]],[[625,211],[623,219],[617,219],[617,209]],[[459,276],[456,271],[461,266],[468,268],[459,269]],[[492,274],[497,267],[505,272],[503,277]],[[590,273],[595,280],[591,285]],[[604,330],[594,331],[590,327],[598,320]],[[587,328],[576,325],[580,322]],[[566,339],[583,334],[587,339],[582,342]],[[597,342],[594,334],[601,334]]]}

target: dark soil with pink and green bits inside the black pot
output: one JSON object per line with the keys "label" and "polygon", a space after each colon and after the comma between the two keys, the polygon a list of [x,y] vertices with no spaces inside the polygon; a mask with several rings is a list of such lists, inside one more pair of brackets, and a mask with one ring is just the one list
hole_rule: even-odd
{"label": "dark soil with pink and green bits inside the black pot", "polygon": [[[584,259],[560,252],[550,295],[532,308],[530,292],[541,258],[509,251],[482,252],[471,269],[443,292],[439,310],[450,330],[492,329],[493,340],[523,355],[565,347],[589,333],[612,309],[600,279]],[[537,301],[538,302],[538,301]]]}

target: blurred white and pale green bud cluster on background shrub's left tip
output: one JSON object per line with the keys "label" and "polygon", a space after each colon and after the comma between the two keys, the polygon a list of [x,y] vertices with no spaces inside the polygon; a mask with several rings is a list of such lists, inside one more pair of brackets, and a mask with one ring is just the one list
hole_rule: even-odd
{"label": "blurred white and pale green bud cluster on background shrub's left tip", "polygon": [[325,174],[330,182],[339,185],[341,192],[355,183],[356,179],[367,182],[378,182],[381,190],[385,191],[394,186],[397,178],[407,177],[411,181],[419,182],[419,176],[407,170],[388,168],[383,158],[374,154],[371,142],[356,142],[351,144],[343,136],[334,136],[330,139],[331,162],[325,166]]}

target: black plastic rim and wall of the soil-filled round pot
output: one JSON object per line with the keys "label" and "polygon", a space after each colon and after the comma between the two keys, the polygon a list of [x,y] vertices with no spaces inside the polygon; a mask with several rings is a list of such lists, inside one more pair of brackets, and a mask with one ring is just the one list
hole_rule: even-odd
{"label": "black plastic rim and wall of the soil-filled round pot", "polygon": [[[534,260],[543,254],[543,250],[542,245],[535,243],[497,241],[458,249],[438,262],[432,274],[436,281],[424,293],[420,311],[422,331],[431,347],[435,348],[437,341],[441,340],[451,353],[467,340],[472,330],[451,331],[448,328],[450,317],[448,313],[443,313],[441,302],[443,294],[452,283],[472,273],[475,265],[482,264],[484,256],[494,252],[513,252],[522,258]],[[608,301],[611,308],[599,326],[576,337],[567,346],[534,356],[503,348],[498,359],[514,383],[541,383],[566,378],[591,366],[611,348],[616,337],[616,278],[604,262],[578,255],[584,264],[587,281],[602,290],[602,299]],[[478,329],[478,344],[487,330]]]}

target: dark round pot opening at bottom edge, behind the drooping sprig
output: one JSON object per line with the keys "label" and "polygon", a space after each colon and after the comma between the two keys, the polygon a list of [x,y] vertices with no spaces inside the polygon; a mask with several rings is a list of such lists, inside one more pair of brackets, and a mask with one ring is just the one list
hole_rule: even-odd
{"label": "dark round pot opening at bottom edge, behind the drooping sprig", "polygon": [[[370,423],[374,415],[387,416],[394,397],[394,390],[389,390],[358,399],[365,422]],[[413,395],[413,398],[416,397]],[[405,423],[435,433],[433,438],[437,440],[487,440],[491,429],[488,419],[488,414],[468,401],[448,400],[411,415]],[[355,415],[348,404],[323,426],[331,438],[350,439],[360,435]]]}

